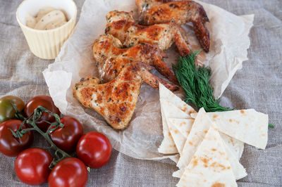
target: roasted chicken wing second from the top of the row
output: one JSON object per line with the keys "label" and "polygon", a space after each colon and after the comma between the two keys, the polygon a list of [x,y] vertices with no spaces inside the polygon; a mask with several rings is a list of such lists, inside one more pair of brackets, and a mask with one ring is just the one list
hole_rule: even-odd
{"label": "roasted chicken wing second from the top of the row", "polygon": [[181,56],[190,54],[190,47],[183,29],[173,22],[151,26],[138,25],[132,12],[111,11],[106,14],[106,34],[111,34],[121,40],[125,46],[135,46],[140,43],[157,44],[161,50],[176,44]]}

